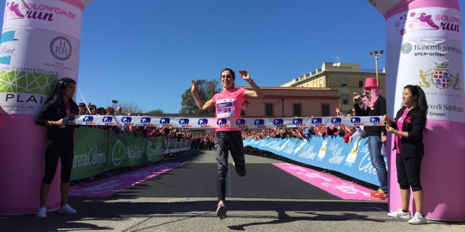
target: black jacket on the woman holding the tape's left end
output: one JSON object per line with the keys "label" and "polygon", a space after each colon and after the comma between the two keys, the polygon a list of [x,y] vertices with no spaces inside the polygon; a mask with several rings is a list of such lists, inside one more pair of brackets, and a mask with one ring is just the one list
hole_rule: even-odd
{"label": "black jacket on the woman holding the tape's left end", "polygon": [[[77,115],[78,108],[77,104],[70,100],[71,113]],[[59,113],[58,113],[58,108]],[[36,124],[46,126],[47,121],[58,121],[66,116],[65,104],[62,103],[58,106],[56,101],[47,101],[44,108],[40,110],[40,113],[36,117]],[[72,125],[66,125],[64,128],[60,126],[48,126],[47,127],[47,140],[54,140],[58,142],[72,142],[74,138],[74,127]]]}

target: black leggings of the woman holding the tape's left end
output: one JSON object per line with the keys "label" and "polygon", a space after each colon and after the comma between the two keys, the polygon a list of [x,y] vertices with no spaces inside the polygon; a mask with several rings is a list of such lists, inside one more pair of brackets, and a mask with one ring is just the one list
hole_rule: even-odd
{"label": "black leggings of the woman holding the tape's left end", "polygon": [[61,160],[61,183],[70,182],[72,159],[74,156],[73,142],[56,142],[47,140],[45,149],[45,174],[42,183],[50,184],[54,180],[58,158]]}

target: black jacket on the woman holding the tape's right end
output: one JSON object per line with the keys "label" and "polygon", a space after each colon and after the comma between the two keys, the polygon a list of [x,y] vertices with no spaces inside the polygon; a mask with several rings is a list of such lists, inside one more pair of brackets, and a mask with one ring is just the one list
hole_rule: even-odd
{"label": "black jacket on the woman holding the tape's right end", "polygon": [[[406,106],[402,107],[397,111],[395,119],[391,123],[394,129],[397,129],[397,120],[404,113]],[[411,109],[407,116],[405,116],[404,122],[402,123],[402,130],[409,133],[409,138],[402,137],[402,144],[400,146],[401,151],[397,151],[398,154],[402,154],[404,157],[417,157],[425,155],[425,147],[423,146],[423,128],[426,125],[426,115],[420,110],[415,108]],[[397,149],[397,143],[394,140],[394,149]]]}

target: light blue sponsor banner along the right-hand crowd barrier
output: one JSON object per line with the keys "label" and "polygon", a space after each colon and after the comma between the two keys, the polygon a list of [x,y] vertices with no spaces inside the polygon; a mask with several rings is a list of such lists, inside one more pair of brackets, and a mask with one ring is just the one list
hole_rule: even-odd
{"label": "light blue sponsor banner along the right-hand crowd barrier", "polygon": [[[314,137],[307,143],[295,138],[245,139],[244,147],[272,152],[300,163],[331,169],[361,181],[379,185],[375,168],[371,164],[366,138],[346,144],[341,137],[323,139]],[[355,142],[358,141],[358,142]],[[387,159],[384,158],[387,163]]]}

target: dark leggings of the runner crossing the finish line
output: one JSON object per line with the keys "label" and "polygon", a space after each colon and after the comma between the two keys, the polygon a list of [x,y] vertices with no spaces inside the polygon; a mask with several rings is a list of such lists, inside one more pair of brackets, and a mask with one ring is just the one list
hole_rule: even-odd
{"label": "dark leggings of the runner crossing the finish line", "polygon": [[228,151],[231,152],[236,172],[244,176],[245,172],[239,172],[246,167],[244,157],[244,144],[242,143],[241,131],[218,131],[215,132],[214,149],[216,151],[216,163],[218,165],[218,177],[216,179],[216,193],[218,200],[226,198],[226,175],[228,173]]}

